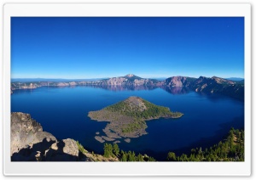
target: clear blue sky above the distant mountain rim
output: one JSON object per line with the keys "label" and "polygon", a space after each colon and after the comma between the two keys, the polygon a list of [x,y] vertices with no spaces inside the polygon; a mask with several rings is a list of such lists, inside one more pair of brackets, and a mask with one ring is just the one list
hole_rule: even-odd
{"label": "clear blue sky above the distant mountain rim", "polygon": [[243,18],[11,19],[12,78],[244,77]]}

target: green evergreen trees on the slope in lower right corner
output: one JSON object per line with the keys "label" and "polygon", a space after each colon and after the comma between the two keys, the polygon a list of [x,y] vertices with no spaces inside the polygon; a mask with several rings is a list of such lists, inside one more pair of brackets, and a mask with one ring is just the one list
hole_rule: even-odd
{"label": "green evergreen trees on the slope in lower right corner", "polygon": [[224,141],[209,149],[191,149],[190,155],[175,155],[169,152],[168,161],[244,161],[244,132],[233,127]]}

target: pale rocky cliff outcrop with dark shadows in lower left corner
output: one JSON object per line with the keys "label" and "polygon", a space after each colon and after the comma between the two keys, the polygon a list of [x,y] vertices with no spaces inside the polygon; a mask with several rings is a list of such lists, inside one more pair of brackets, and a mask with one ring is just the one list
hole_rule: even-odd
{"label": "pale rocky cliff outcrop with dark shadows in lower left corner", "polygon": [[79,152],[71,138],[57,140],[33,120],[31,115],[11,113],[10,153],[12,161],[91,161],[89,152]]}

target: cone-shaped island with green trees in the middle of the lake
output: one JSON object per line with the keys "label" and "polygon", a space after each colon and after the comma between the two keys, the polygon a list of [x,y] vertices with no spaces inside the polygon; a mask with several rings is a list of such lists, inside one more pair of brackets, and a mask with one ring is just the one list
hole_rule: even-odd
{"label": "cone-shaped island with green trees in the middle of the lake", "polygon": [[131,96],[117,104],[109,105],[102,110],[90,111],[88,116],[91,120],[108,121],[108,125],[102,130],[107,136],[95,138],[101,143],[114,141],[119,143],[119,138],[125,138],[129,143],[130,138],[137,138],[146,132],[146,122],[159,118],[179,118],[183,114],[172,112],[169,108],[148,102],[139,97]]}

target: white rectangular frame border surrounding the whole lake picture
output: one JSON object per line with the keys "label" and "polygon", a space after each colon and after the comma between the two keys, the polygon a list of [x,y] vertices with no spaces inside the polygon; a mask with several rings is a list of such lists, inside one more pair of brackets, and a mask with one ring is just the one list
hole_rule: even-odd
{"label": "white rectangular frame border surrounding the whole lake picture", "polygon": [[[3,173],[6,176],[249,176],[251,174],[251,6],[178,3],[9,3],[3,16]],[[11,162],[10,161],[10,17],[173,16],[245,17],[245,161],[244,162]],[[100,171],[99,171],[100,170]]]}

